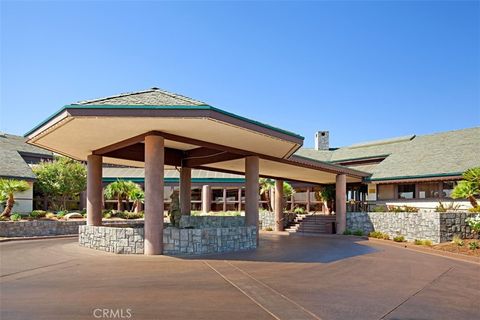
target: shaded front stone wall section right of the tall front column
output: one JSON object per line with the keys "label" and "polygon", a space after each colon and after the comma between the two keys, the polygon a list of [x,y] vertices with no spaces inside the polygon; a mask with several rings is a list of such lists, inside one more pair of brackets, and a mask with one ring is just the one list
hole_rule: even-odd
{"label": "shaded front stone wall section right of the tall front column", "polygon": [[169,255],[208,254],[257,247],[256,227],[177,229],[163,232],[163,250]]}

